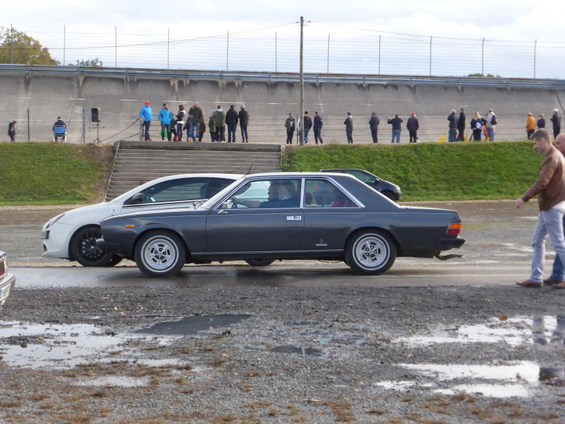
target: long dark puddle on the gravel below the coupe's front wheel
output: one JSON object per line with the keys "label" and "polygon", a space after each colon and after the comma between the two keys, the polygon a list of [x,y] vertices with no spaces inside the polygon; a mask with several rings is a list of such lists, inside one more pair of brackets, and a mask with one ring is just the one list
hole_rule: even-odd
{"label": "long dark puddle on the gravel below the coupe's front wheel", "polygon": [[208,328],[221,328],[231,324],[237,324],[251,315],[197,315],[186,317],[180,321],[160,322],[149,328],[142,328],[134,333],[155,335],[192,335]]}

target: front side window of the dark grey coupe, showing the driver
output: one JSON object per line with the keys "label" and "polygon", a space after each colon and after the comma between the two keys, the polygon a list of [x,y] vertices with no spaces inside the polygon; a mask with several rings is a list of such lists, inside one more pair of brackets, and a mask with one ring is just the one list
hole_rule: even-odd
{"label": "front side window of the dark grey coupe, showing the driver", "polygon": [[248,182],[226,199],[228,209],[284,209],[300,207],[301,179],[262,179]]}

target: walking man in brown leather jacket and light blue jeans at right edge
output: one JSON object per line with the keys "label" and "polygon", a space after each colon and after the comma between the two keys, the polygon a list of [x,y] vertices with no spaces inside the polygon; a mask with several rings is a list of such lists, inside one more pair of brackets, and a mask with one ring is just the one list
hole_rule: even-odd
{"label": "walking man in brown leather jacket and light blue jeans at right edge", "polygon": [[[544,154],[539,166],[539,176],[534,185],[516,200],[517,208],[537,196],[539,214],[532,236],[532,266],[530,278],[517,285],[526,288],[539,288],[544,285],[544,259],[546,238],[549,236],[555,253],[565,262],[565,236],[563,219],[565,216],[565,158],[553,147],[548,130],[537,130],[533,135],[534,150]],[[565,284],[554,285],[565,288]]]}

